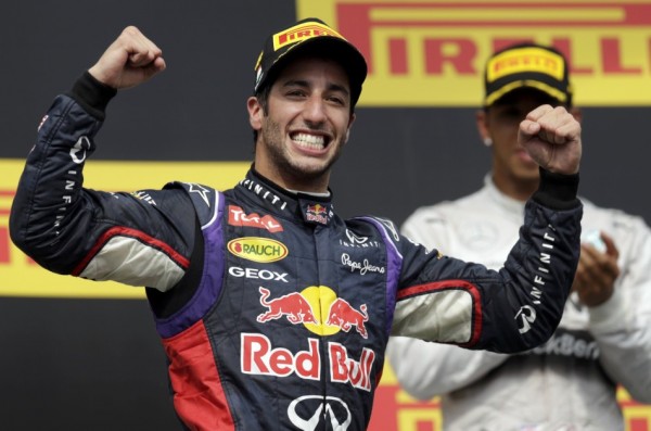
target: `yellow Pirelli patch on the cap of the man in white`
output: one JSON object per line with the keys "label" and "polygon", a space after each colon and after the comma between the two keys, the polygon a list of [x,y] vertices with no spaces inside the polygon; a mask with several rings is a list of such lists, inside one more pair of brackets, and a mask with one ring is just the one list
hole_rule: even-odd
{"label": "yellow Pirelli patch on the cap of the man in white", "polygon": [[560,55],[539,48],[523,48],[496,55],[486,72],[488,81],[493,83],[522,72],[538,72],[562,80],[564,62]]}

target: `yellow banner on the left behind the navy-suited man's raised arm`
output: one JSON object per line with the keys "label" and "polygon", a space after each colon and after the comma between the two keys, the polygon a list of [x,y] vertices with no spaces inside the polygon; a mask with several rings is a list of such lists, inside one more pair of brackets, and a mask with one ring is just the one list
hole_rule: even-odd
{"label": "yellow banner on the left behind the navy-suited man's raised arm", "polygon": [[[95,282],[52,274],[12,244],[9,213],[25,162],[0,159],[0,296],[143,299],[144,289],[113,281]],[[199,182],[218,190],[244,178],[251,162],[88,162],[85,187],[104,191],[159,189],[171,180]]]}

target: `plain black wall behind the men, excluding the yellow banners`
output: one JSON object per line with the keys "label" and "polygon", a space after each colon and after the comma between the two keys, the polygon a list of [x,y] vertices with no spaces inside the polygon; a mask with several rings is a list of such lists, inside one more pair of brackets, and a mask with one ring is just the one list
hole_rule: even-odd
{"label": "plain black wall behind the men, excluding the yellow banners", "polygon": [[[133,24],[168,68],[112,102],[95,160],[248,161],[254,63],[294,20],[290,0],[4,2],[0,157],[24,159],[52,99]],[[646,219],[650,114],[590,106],[583,123],[582,193]],[[342,215],[400,224],[474,191],[488,167],[472,107],[362,106],[331,186]],[[178,429],[146,303],[0,299],[0,429]]]}

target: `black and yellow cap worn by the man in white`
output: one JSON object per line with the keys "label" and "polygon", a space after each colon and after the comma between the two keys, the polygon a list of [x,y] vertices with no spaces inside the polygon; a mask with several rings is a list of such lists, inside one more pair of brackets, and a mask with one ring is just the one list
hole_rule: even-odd
{"label": "black and yellow cap worn by the man in white", "polygon": [[484,106],[518,88],[534,88],[572,106],[567,60],[552,47],[518,43],[497,51],[486,62]]}

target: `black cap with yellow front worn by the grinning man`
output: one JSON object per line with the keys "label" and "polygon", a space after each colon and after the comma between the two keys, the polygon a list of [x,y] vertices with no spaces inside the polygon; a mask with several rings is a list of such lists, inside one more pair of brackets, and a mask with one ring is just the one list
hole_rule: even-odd
{"label": "black cap with yellow front worn by the grinning man", "polygon": [[269,76],[281,65],[307,50],[337,60],[350,79],[350,102],[357,103],[367,75],[367,63],[357,48],[318,18],[305,18],[273,33],[265,41],[255,65],[254,93],[270,85]]}

